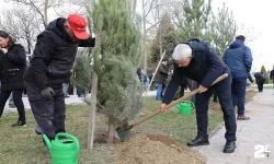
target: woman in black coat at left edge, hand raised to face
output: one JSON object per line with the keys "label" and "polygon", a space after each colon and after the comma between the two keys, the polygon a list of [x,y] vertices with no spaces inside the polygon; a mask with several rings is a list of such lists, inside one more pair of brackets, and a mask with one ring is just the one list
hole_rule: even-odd
{"label": "woman in black coat at left edge, hand raised to face", "polygon": [[13,102],[19,113],[19,119],[12,127],[24,126],[26,120],[22,93],[24,89],[23,75],[26,69],[25,49],[22,45],[16,44],[10,34],[4,31],[0,31],[0,117],[12,93]]}

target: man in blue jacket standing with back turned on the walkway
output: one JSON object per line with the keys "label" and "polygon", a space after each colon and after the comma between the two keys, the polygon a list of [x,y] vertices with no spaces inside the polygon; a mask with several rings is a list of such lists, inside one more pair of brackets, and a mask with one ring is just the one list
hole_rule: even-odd
{"label": "man in blue jacket standing with back turned on the walkway", "polygon": [[233,106],[238,107],[238,120],[249,120],[244,115],[244,102],[247,92],[247,79],[252,66],[252,55],[248,46],[244,45],[246,37],[236,37],[229,48],[224,54],[224,62],[228,66],[232,74],[232,101]]}

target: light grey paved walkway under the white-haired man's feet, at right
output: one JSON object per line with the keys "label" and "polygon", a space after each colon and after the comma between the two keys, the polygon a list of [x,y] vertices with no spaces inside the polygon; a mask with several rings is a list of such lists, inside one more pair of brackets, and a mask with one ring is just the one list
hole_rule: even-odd
{"label": "light grey paved walkway under the white-haired man's feet, at right", "polygon": [[[208,164],[274,164],[274,95],[273,91],[265,90],[258,93],[246,105],[250,120],[237,121],[237,149],[232,154],[222,153],[225,145],[225,127],[214,134],[209,145],[197,150],[207,159]],[[256,144],[271,145],[267,155],[255,159]],[[263,149],[262,149],[263,152]],[[264,156],[264,154],[263,154]]]}

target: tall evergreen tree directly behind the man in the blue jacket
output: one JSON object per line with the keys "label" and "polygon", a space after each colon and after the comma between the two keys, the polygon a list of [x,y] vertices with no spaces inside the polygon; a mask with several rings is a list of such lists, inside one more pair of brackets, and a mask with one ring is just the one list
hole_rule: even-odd
{"label": "tall evergreen tree directly behind the man in the blue jacket", "polygon": [[225,3],[221,9],[218,9],[217,15],[213,15],[210,24],[213,45],[216,50],[224,54],[229,44],[235,39],[237,32],[235,16]]}

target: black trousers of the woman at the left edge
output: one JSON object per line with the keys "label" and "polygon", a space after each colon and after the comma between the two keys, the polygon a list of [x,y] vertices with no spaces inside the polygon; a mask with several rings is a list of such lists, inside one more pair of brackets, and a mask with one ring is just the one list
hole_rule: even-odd
{"label": "black trousers of the woman at the left edge", "polygon": [[11,92],[13,95],[14,105],[18,108],[19,120],[25,121],[25,107],[24,107],[24,104],[22,101],[23,89],[22,90],[13,90],[13,91],[1,91],[1,93],[0,93],[0,117],[3,114],[4,105],[5,105],[7,101],[9,99]]}

